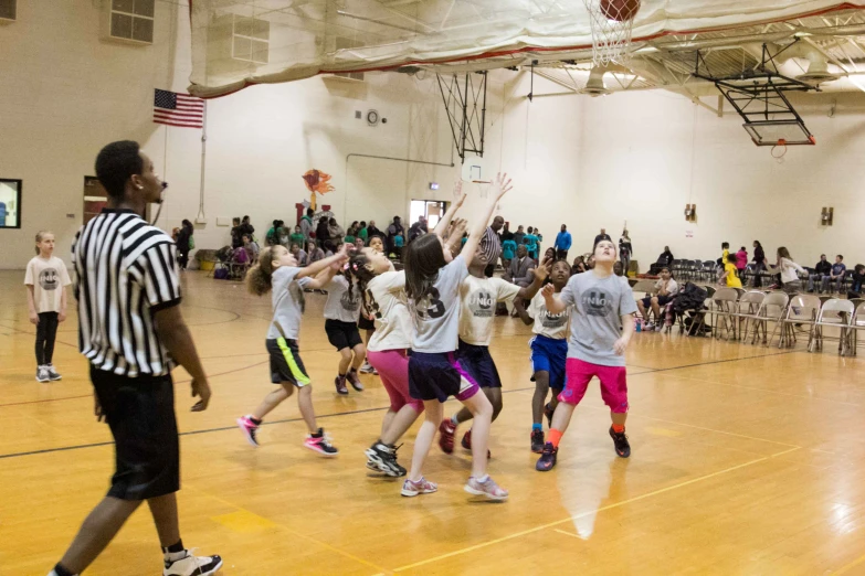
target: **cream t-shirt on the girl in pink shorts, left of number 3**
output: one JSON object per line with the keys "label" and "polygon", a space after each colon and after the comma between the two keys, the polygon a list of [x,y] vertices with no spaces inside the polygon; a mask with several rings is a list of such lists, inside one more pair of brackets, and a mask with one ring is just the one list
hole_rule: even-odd
{"label": "cream t-shirt on the girl in pink shorts, left of number 3", "polygon": [[384,273],[367,282],[367,306],[376,318],[376,332],[367,343],[370,352],[411,348],[412,326],[404,288],[404,271]]}

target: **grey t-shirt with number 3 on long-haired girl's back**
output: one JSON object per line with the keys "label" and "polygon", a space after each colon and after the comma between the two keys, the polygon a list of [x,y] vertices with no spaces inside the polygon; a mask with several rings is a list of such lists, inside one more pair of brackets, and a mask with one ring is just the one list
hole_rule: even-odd
{"label": "grey t-shirt with number 3 on long-haired girl's back", "polygon": [[411,349],[428,354],[453,352],[460,345],[460,284],[468,276],[462,255],[439,270],[433,294],[411,302],[414,335]]}

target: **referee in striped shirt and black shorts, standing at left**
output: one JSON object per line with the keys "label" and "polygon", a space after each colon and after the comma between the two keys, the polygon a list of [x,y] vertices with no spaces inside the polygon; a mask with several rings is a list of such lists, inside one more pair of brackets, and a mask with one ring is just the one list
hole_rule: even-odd
{"label": "referee in striped shirt and black shorts, standing at left", "polygon": [[[219,556],[197,557],[180,540],[176,492],[180,450],[171,369],[192,376],[193,412],[207,409],[210,386],[180,314],[177,249],[141,217],[165,188],[152,161],[131,141],[96,158],[108,207],[75,237],[72,259],[78,301],[78,345],[91,362],[96,417],[115,441],[108,494],[84,521],[50,576],[83,572],[133,512],[147,501],[162,546],[163,576],[214,574]],[[138,570],[127,566],[122,574]]]}

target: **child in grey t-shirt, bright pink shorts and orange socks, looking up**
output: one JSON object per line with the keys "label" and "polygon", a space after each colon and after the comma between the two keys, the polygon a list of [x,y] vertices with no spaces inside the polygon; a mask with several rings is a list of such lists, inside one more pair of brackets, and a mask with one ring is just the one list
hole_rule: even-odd
{"label": "child in grey t-shirt, bright pink shorts and orange socks, looking up", "polygon": [[571,277],[560,295],[555,294],[552,285],[541,291],[549,313],[561,313],[568,306],[573,307],[565,390],[559,394],[549,437],[535,467],[541,472],[556,466],[559,440],[593,376],[601,381],[601,397],[610,407],[613,420],[610,436],[615,454],[622,458],[631,456],[624,428],[627,417],[624,352],[634,333],[636,302],[627,280],[613,274],[615,245],[611,241],[595,244],[594,263],[592,270]]}

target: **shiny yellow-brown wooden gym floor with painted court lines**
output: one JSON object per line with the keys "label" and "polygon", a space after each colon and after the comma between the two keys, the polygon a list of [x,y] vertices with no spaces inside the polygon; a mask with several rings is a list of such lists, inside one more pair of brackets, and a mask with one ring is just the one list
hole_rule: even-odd
{"label": "shiny yellow-brown wooden gym floor with painted court lines", "polygon": [[[74,313],[55,354],[63,381],[34,381],[22,278],[0,273],[0,574],[44,575],[105,493],[113,447],[92,416]],[[363,376],[363,393],[335,394],[324,297],[308,295],[300,348],[320,424],[340,449],[334,460],[303,448],[294,398],[272,415],[261,448],[246,444],[234,418],[272,390],[270,298],[202,273],[184,284],[183,313],[213,398],[208,412],[190,413],[188,376],[175,373],[181,530],[188,546],[224,557],[223,574],[865,574],[865,366],[833,344],[809,354],[801,343],[790,351],[635,334],[631,459],[615,457],[592,384],[558,467],[539,473],[528,447],[529,330],[496,319],[506,394],[490,473],[510,500],[473,500],[462,490],[468,456],[437,446],[426,476],[439,493],[410,500],[400,481],[367,476],[362,451],[387,394],[373,376]],[[400,451],[405,465],[413,436]],[[141,509],[87,574],[151,575],[159,562]]]}

